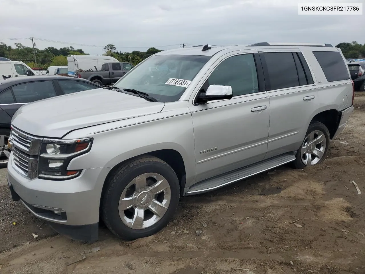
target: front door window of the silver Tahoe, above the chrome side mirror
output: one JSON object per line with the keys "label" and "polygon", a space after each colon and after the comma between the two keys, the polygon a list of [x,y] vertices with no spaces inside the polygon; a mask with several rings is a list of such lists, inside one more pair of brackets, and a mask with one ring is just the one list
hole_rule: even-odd
{"label": "front door window of the silver Tahoe, above the chrome side mirror", "polygon": [[258,92],[253,54],[232,56],[220,63],[208,78],[209,85],[230,85],[233,96]]}

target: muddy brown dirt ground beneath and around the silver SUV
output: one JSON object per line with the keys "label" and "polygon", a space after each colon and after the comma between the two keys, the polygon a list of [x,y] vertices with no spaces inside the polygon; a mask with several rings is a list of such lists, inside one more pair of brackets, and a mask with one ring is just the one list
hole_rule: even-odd
{"label": "muddy brown dirt ground beneath and around the silver SUV", "polygon": [[[165,229],[132,242],[106,228],[92,245],[58,235],[20,202],[11,202],[6,171],[0,170],[0,273],[364,274],[363,92],[354,106],[323,164],[280,167],[184,197]],[[297,219],[299,227],[291,223]],[[95,247],[100,250],[90,252]],[[68,266],[82,252],[86,258]]]}

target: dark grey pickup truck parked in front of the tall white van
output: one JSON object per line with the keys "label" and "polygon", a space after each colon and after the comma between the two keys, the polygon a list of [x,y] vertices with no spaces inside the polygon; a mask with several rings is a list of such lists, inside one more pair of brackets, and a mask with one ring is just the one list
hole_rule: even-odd
{"label": "dark grey pickup truck parked in front of the tall white van", "polygon": [[78,77],[92,81],[93,83],[105,86],[114,84],[123,77],[133,66],[127,62],[105,63],[100,71],[79,71]]}

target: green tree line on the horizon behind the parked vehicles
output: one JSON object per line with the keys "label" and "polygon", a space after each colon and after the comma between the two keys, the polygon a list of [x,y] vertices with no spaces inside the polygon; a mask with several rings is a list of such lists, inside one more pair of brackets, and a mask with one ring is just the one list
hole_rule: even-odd
{"label": "green tree line on the horizon behind the parked vehicles", "polygon": [[[67,56],[71,54],[83,54],[82,49],[75,49],[72,46],[62,47],[57,49],[55,47],[46,47],[45,49],[35,48],[35,54],[37,63],[34,60],[34,52],[32,47],[27,47],[21,43],[15,43],[15,47],[8,46],[3,42],[0,42],[0,57],[8,58],[12,61],[22,61],[31,68],[47,68],[48,66],[61,66],[67,65]],[[345,58],[364,58],[365,57],[365,43],[361,45],[356,41],[347,43],[339,43],[336,45],[342,50]],[[112,56],[120,62],[131,62],[132,65],[137,65],[147,57],[161,52],[162,50],[150,47],[146,52],[133,51],[133,52],[119,52],[112,44],[108,44],[104,47],[105,53],[103,55]]]}

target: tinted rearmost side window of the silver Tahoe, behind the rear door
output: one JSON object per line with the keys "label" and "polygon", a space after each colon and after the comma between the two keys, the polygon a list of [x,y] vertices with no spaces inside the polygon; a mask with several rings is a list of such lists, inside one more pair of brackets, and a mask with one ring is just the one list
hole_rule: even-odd
{"label": "tinted rearmost side window of the silver Tahoe, behind the rear door", "polygon": [[339,52],[313,52],[328,82],[349,80],[346,63]]}

